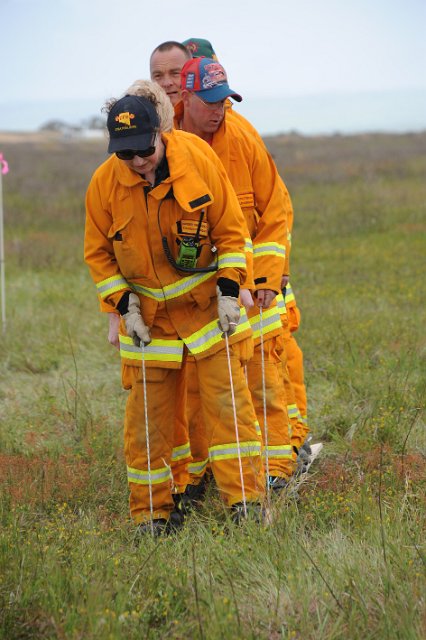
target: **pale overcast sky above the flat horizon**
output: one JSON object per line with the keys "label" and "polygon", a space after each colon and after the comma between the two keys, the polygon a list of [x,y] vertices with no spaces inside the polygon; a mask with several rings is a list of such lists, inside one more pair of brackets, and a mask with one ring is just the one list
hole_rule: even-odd
{"label": "pale overcast sky above the flat horizon", "polygon": [[0,0],[0,105],[101,105],[188,37],[213,43],[245,101],[424,90],[425,34],[426,0]]}

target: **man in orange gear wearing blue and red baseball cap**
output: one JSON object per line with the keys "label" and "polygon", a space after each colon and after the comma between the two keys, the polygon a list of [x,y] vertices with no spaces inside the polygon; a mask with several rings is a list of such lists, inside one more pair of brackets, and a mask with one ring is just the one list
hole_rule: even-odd
{"label": "man in orange gear wearing blue and red baseball cap", "polygon": [[[182,69],[183,100],[175,106],[175,126],[209,142],[225,167],[245,215],[246,246],[253,257],[252,289],[256,303],[248,312],[255,349],[247,364],[247,378],[264,439],[269,482],[277,488],[284,486],[293,472],[286,398],[280,373],[282,329],[274,302],[285,267],[286,217],[291,204],[269,154],[253,136],[228,121],[224,109],[228,96],[241,100],[229,88],[222,65],[207,58],[188,61]],[[245,294],[248,293],[246,290]],[[253,305],[251,296],[250,303]],[[192,378],[189,373],[188,384],[190,397],[195,399],[193,373]],[[193,407],[189,410],[198,414]],[[200,434],[201,431],[191,429],[193,426],[190,420],[191,453],[195,458],[190,465],[191,483],[197,483],[207,458],[205,444],[195,442],[194,431]],[[200,438],[202,440],[202,435]],[[198,444],[201,444],[200,452],[197,451]]]}

